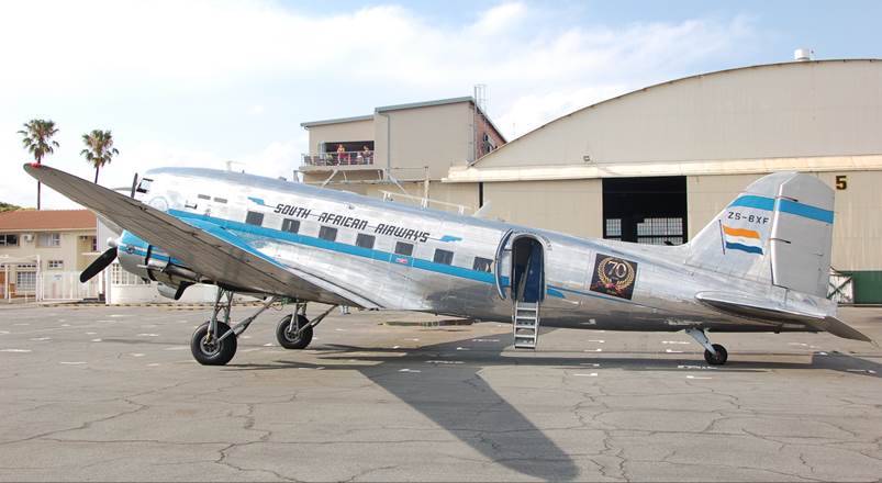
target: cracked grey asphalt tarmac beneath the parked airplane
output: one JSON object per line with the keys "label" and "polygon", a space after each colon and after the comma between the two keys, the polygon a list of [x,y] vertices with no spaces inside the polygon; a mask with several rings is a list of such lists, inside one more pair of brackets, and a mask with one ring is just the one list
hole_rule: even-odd
{"label": "cracked grey asphalt tarmac beneath the parked airplane", "polygon": [[[311,307],[311,314],[321,307]],[[237,308],[245,316],[253,308]],[[879,481],[882,350],[827,334],[543,333],[269,311],[226,367],[209,311],[0,310],[2,481]],[[882,340],[882,308],[842,308]]]}

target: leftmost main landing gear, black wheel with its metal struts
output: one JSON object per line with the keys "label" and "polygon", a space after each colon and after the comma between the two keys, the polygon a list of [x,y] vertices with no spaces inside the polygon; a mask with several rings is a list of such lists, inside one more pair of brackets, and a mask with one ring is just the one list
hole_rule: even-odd
{"label": "leftmost main landing gear, black wheel with its metal struts", "polygon": [[233,308],[233,292],[219,288],[211,318],[197,327],[190,339],[190,351],[193,353],[193,358],[202,366],[224,366],[230,362],[236,355],[236,337],[244,333],[252,322],[269,308],[276,300],[275,296],[270,296],[254,315],[231,327],[230,312]]}

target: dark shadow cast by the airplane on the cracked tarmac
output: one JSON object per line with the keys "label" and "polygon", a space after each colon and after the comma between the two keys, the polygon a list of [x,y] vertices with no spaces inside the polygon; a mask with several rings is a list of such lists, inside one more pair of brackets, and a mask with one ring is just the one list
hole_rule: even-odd
{"label": "dark shadow cast by the airplane on the cracked tarmac", "polygon": [[[652,359],[647,357],[580,357],[561,356],[516,357],[516,352],[503,355],[503,345],[483,345],[485,349],[457,351],[457,347],[470,339],[424,346],[413,349],[365,348],[343,345],[323,345],[316,350],[322,360],[333,362],[322,366],[326,371],[355,370],[372,382],[418,411],[439,427],[488,459],[522,474],[544,480],[572,480],[578,476],[573,460],[543,430],[500,396],[479,374],[493,366],[555,366],[584,369],[585,361],[602,363],[603,369],[633,371],[677,371],[704,367],[703,361],[691,359]],[[475,346],[472,346],[475,347]],[[402,355],[402,352],[406,352]],[[297,352],[291,352],[295,356]],[[567,352],[571,353],[571,352]],[[634,352],[629,352],[634,353]],[[394,357],[393,357],[394,356]],[[769,355],[763,355],[769,356]],[[780,356],[792,357],[793,353]],[[749,358],[745,355],[741,358]],[[358,361],[359,364],[337,364]],[[433,378],[402,378],[401,367],[425,368],[429,361],[458,361],[445,364],[445,371]],[[377,362],[365,366],[364,362]],[[417,366],[418,363],[418,366]],[[264,364],[230,364],[225,370],[290,370],[317,368],[317,364],[291,360],[278,360]],[[882,364],[866,359],[831,352],[814,353],[810,363],[730,360],[719,372],[767,372],[770,370],[833,370],[856,375],[882,377]]]}

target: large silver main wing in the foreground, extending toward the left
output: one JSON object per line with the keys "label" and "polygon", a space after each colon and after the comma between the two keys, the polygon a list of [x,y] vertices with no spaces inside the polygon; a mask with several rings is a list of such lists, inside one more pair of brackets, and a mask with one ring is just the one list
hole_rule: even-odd
{"label": "large silver main wing in the foreground, extending toward the left", "polygon": [[27,164],[24,170],[215,282],[256,293],[380,308],[368,297],[321,274],[278,263],[216,225],[185,223],[135,199],[45,165]]}

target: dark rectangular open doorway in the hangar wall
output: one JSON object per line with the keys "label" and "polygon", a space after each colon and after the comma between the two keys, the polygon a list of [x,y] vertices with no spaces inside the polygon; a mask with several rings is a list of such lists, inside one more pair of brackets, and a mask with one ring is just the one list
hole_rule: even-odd
{"label": "dark rectangular open doorway in the hangar wall", "polygon": [[603,237],[648,245],[686,242],[684,176],[603,179]]}

